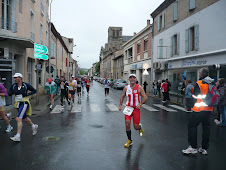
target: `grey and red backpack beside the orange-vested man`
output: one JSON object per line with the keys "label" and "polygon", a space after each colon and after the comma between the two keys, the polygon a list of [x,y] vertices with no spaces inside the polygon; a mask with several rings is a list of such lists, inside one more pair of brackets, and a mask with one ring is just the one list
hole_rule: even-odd
{"label": "grey and red backpack beside the orange-vested man", "polygon": [[213,84],[209,84],[209,90],[203,101],[210,107],[218,106],[220,102],[220,92]]}

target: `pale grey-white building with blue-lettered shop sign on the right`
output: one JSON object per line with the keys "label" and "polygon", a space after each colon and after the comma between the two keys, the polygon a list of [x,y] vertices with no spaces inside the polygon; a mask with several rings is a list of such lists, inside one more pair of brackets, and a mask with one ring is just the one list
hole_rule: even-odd
{"label": "pale grey-white building with blue-lettered shop sign on the right", "polygon": [[166,79],[176,92],[181,75],[196,82],[198,70],[208,67],[217,78],[214,64],[221,64],[220,77],[226,71],[226,1],[166,0],[153,17],[153,77]]}

